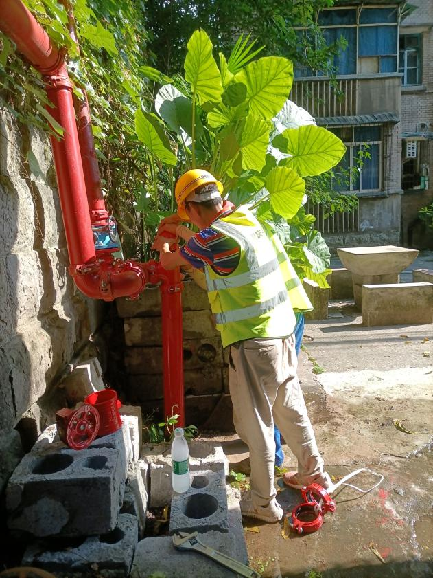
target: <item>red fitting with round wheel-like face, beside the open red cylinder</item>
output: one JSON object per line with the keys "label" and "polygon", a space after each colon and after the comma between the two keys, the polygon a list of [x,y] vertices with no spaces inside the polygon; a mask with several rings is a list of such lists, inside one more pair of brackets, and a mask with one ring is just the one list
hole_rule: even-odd
{"label": "red fitting with round wheel-like face, beside the open red cylinder", "polygon": [[82,405],[78,410],[63,408],[56,412],[56,423],[62,442],[71,449],[85,449],[100,430],[100,414],[93,405]]}

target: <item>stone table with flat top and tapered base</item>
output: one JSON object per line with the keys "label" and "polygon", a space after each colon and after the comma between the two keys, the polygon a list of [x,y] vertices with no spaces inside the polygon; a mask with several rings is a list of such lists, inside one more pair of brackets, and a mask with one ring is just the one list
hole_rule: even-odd
{"label": "stone table with flat top and tapered base", "polygon": [[361,308],[362,285],[398,283],[399,274],[418,256],[416,249],[395,245],[337,249],[340,261],[352,274],[355,304]]}

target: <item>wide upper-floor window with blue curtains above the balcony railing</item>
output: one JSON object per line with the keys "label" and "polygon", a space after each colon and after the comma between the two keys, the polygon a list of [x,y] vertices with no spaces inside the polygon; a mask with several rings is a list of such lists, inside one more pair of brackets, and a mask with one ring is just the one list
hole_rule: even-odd
{"label": "wide upper-floor window with blue curtains above the balcony railing", "polygon": [[[341,39],[346,45],[330,63],[337,74],[397,72],[397,6],[320,10],[318,25],[328,45]],[[320,73],[295,68],[295,77],[300,76],[320,76]]]}

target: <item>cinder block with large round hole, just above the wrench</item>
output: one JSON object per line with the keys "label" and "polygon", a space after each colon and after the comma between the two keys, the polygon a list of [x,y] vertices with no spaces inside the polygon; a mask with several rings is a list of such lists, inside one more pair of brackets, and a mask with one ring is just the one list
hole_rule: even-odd
{"label": "cinder block with large round hole, just above the wrench", "polygon": [[229,531],[226,478],[224,471],[191,471],[191,487],[173,492],[170,510],[170,534],[218,530]]}

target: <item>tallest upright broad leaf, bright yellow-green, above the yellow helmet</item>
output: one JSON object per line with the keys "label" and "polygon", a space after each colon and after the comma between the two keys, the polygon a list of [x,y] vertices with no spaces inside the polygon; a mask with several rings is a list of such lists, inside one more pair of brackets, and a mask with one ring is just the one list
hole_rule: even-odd
{"label": "tallest upright broad leaf, bright yellow-green, above the yellow helmet", "polygon": [[220,102],[221,74],[212,56],[212,43],[204,30],[196,30],[187,44],[185,78],[202,102]]}

